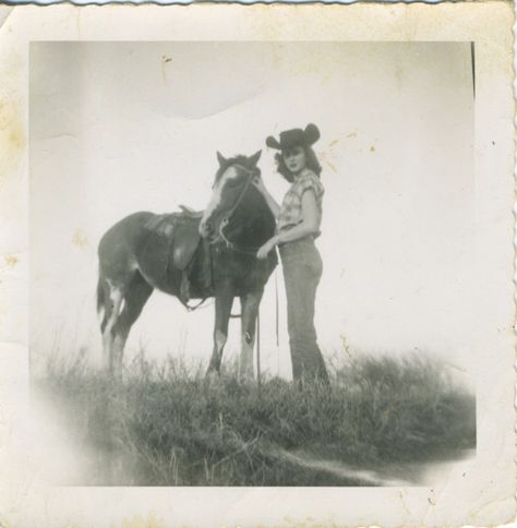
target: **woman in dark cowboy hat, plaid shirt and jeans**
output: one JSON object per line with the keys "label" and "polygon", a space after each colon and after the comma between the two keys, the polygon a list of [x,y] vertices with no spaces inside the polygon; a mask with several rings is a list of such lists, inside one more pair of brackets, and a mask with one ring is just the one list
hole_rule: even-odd
{"label": "woman in dark cowboy hat, plaid shirt and jeans", "polygon": [[305,130],[280,133],[279,141],[269,136],[266,145],[280,151],[275,155],[278,172],[291,183],[281,206],[269,194],[260,177],[255,187],[264,195],[277,218],[277,235],[257,252],[265,259],[278,245],[287,295],[287,322],[291,350],[292,376],[296,382],[318,381],[328,384],[328,374],[316,343],[314,301],[323,263],[314,244],[322,221],[321,166],[312,145],[320,139],[315,124]]}

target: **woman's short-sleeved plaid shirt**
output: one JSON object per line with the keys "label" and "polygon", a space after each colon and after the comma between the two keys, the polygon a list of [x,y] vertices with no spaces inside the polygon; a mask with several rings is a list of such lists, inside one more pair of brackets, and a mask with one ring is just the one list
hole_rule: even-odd
{"label": "woman's short-sleeved plaid shirt", "polygon": [[[286,231],[303,220],[301,199],[303,193],[312,189],[316,196],[317,224],[322,221],[322,199],[325,192],[320,178],[310,169],[303,169],[300,176],[291,183],[280,206],[278,216],[278,231]],[[316,233],[316,237],[320,231]]]}

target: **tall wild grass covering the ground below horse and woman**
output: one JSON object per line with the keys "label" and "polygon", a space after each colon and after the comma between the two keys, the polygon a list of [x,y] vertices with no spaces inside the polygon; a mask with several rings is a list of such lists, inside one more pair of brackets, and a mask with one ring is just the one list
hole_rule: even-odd
{"label": "tall wild grass covering the ground below horse and woman", "polygon": [[363,356],[332,374],[330,392],[280,379],[258,391],[141,356],[123,383],[81,359],[36,383],[94,454],[83,484],[359,485],[300,459],[374,467],[476,445],[473,396],[426,357]]}

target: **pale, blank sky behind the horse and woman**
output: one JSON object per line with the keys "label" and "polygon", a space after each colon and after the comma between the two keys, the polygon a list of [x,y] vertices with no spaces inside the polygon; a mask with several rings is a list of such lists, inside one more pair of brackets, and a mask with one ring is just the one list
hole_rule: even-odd
{"label": "pale, blank sky behind the horse and woman", "polygon": [[[480,279],[468,43],[32,43],[29,100],[34,365],[81,348],[100,358],[96,251],[112,224],[205,207],[217,151],[262,149],[280,201],[288,184],[265,137],[314,122],[325,358],[416,351],[468,370]],[[188,313],[155,292],[125,360],[144,348],[207,364],[212,328],[209,302]],[[238,344],[232,321],[225,358]],[[265,370],[290,376],[280,268],[261,307],[261,350]]]}

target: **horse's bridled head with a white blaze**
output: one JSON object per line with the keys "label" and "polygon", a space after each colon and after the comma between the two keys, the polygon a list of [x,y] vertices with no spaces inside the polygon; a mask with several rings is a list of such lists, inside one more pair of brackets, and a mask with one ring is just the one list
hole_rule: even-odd
{"label": "horse's bridled head with a white blaze", "polygon": [[252,178],[261,173],[256,163],[262,151],[253,156],[236,156],[226,159],[217,153],[219,169],[217,170],[212,197],[200,223],[200,235],[208,239],[217,239],[233,211],[242,201],[247,190],[252,185]]}

